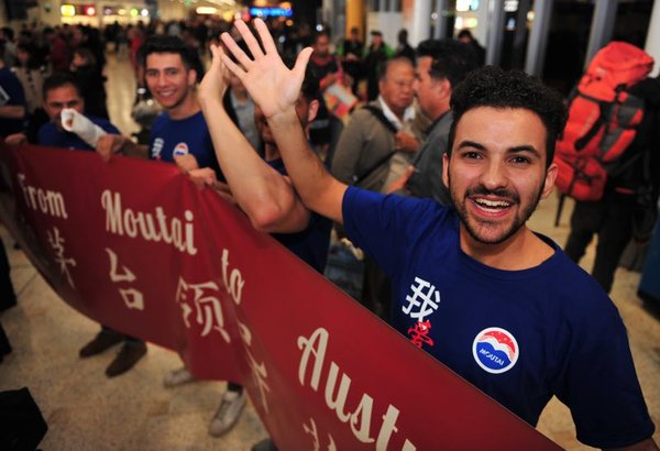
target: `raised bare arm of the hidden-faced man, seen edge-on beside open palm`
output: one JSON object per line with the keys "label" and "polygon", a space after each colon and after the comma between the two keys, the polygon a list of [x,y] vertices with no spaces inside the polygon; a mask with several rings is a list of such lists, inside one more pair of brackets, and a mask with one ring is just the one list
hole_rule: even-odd
{"label": "raised bare arm of the hidden-faced man, seen edge-on beside open palm", "polygon": [[235,201],[257,230],[304,230],[310,213],[290,182],[261,158],[224,110],[222,96],[229,72],[222,64],[222,48],[211,45],[211,67],[199,85],[198,97],[216,156]]}

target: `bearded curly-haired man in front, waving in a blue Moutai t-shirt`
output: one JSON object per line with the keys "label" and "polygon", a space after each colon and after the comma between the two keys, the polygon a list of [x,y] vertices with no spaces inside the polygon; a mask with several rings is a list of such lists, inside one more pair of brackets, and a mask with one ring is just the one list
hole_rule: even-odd
{"label": "bearded curly-haired man in front, waving in a blue Moutai t-shirt", "polygon": [[582,442],[657,450],[614,304],[526,227],[553,188],[561,97],[522,73],[474,72],[452,95],[442,178],[453,209],[369,193],[332,178],[307,150],[295,106],[310,50],[289,70],[263,21],[263,51],[235,25],[255,57],[224,33],[241,66],[223,62],[267,118],[304,204],[343,222],[392,277],[399,332],[531,425],[556,395]]}

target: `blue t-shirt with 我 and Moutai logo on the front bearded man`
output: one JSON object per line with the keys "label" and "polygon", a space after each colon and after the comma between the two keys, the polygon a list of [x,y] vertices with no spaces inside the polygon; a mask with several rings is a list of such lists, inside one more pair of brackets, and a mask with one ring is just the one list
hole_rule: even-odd
{"label": "blue t-shirt with \u6211 and Moutai logo on the front bearded man", "polygon": [[343,218],[391,277],[393,326],[415,344],[532,426],[556,395],[583,443],[651,437],[616,307],[550,239],[540,265],[502,271],[461,250],[460,219],[433,200],[350,187]]}

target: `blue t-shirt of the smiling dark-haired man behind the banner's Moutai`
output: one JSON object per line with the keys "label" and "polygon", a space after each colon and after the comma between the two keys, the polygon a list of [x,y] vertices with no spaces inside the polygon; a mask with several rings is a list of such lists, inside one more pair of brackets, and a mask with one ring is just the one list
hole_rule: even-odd
{"label": "blue t-shirt of the smiling dark-haired man behind the banner's Moutai", "polygon": [[150,158],[174,163],[175,155],[187,154],[195,156],[199,167],[210,167],[219,179],[224,179],[201,111],[180,120],[173,120],[167,112],[162,112],[152,125]]}

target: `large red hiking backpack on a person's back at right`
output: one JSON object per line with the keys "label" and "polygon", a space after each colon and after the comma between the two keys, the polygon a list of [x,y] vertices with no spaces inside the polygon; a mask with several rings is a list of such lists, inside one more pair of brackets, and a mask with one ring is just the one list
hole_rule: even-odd
{"label": "large red hiking backpack on a person's back at right", "polygon": [[635,139],[644,100],[627,89],[651,72],[653,58],[625,42],[594,56],[569,100],[569,120],[557,142],[557,187],[576,200],[598,200],[607,174]]}

